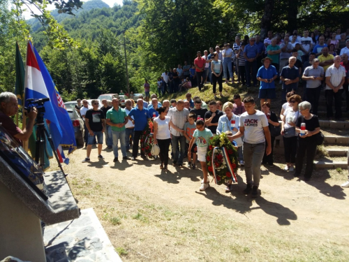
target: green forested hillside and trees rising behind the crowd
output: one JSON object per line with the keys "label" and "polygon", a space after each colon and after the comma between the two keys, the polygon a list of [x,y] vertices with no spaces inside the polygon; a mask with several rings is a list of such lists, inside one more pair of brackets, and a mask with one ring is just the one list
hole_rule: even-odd
{"label": "green forested hillside and trees rising behind the crowd", "polygon": [[[52,0],[52,15],[39,5],[43,27],[24,22],[24,3],[40,0],[3,0],[0,4],[0,88],[15,85],[15,42],[25,57],[30,35],[64,100],[96,98],[126,88],[124,38],[131,91],[142,90],[144,78],[156,79],[169,67],[193,62],[196,51],[232,43],[237,34],[267,30],[348,27],[347,1],[291,0],[124,0],[122,6],[103,7],[101,0]],[[15,4],[8,10],[8,2]],[[95,8],[96,7],[96,8]],[[74,10],[77,8],[77,12]],[[58,15],[58,13],[60,13]],[[76,16],[68,15],[76,13]],[[30,26],[31,25],[31,26]]]}

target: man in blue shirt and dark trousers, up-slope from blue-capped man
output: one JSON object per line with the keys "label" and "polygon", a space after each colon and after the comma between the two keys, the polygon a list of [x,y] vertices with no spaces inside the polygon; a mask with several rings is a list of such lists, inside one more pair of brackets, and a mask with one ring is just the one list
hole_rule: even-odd
{"label": "man in blue shirt and dark trousers, up-slope from blue-capped man", "polygon": [[244,57],[245,57],[245,68],[246,68],[246,86],[251,87],[251,66],[252,66],[252,80],[253,85],[257,87],[257,57],[259,48],[255,45],[255,38],[250,38],[250,43],[245,46]]}

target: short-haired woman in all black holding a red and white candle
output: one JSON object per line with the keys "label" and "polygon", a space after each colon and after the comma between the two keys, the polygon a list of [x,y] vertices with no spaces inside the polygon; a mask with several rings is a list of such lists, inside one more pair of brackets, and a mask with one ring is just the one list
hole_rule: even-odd
{"label": "short-haired woman in all black holding a red and white candle", "polygon": [[297,119],[296,131],[301,132],[302,123],[305,124],[304,134],[298,136],[298,149],[296,159],[295,177],[299,177],[302,172],[303,160],[306,158],[306,170],[304,180],[309,181],[313,174],[313,161],[316,153],[316,134],[320,132],[319,119],[316,115],[311,114],[311,103],[304,101],[299,103],[299,112],[302,117]]}

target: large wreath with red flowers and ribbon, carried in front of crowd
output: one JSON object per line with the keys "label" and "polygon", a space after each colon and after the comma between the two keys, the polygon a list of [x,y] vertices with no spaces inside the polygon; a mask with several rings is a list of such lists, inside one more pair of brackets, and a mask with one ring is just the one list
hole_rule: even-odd
{"label": "large wreath with red flowers and ribbon, carried in front of crowd", "polygon": [[237,148],[232,145],[226,133],[209,140],[206,162],[209,175],[214,176],[216,184],[223,184],[230,179],[237,182]]}

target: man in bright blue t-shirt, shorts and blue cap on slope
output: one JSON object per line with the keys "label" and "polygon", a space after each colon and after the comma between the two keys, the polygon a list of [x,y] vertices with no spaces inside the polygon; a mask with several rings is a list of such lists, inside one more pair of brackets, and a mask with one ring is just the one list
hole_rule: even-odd
{"label": "man in bright blue t-shirt, shorts and blue cap on slope", "polygon": [[[268,45],[269,47],[270,45]],[[257,80],[260,81],[260,108],[262,108],[265,99],[270,103],[272,99],[276,99],[275,82],[274,80],[278,77],[275,66],[272,65],[272,59],[265,57],[262,59],[264,66],[260,66],[257,73]]]}

